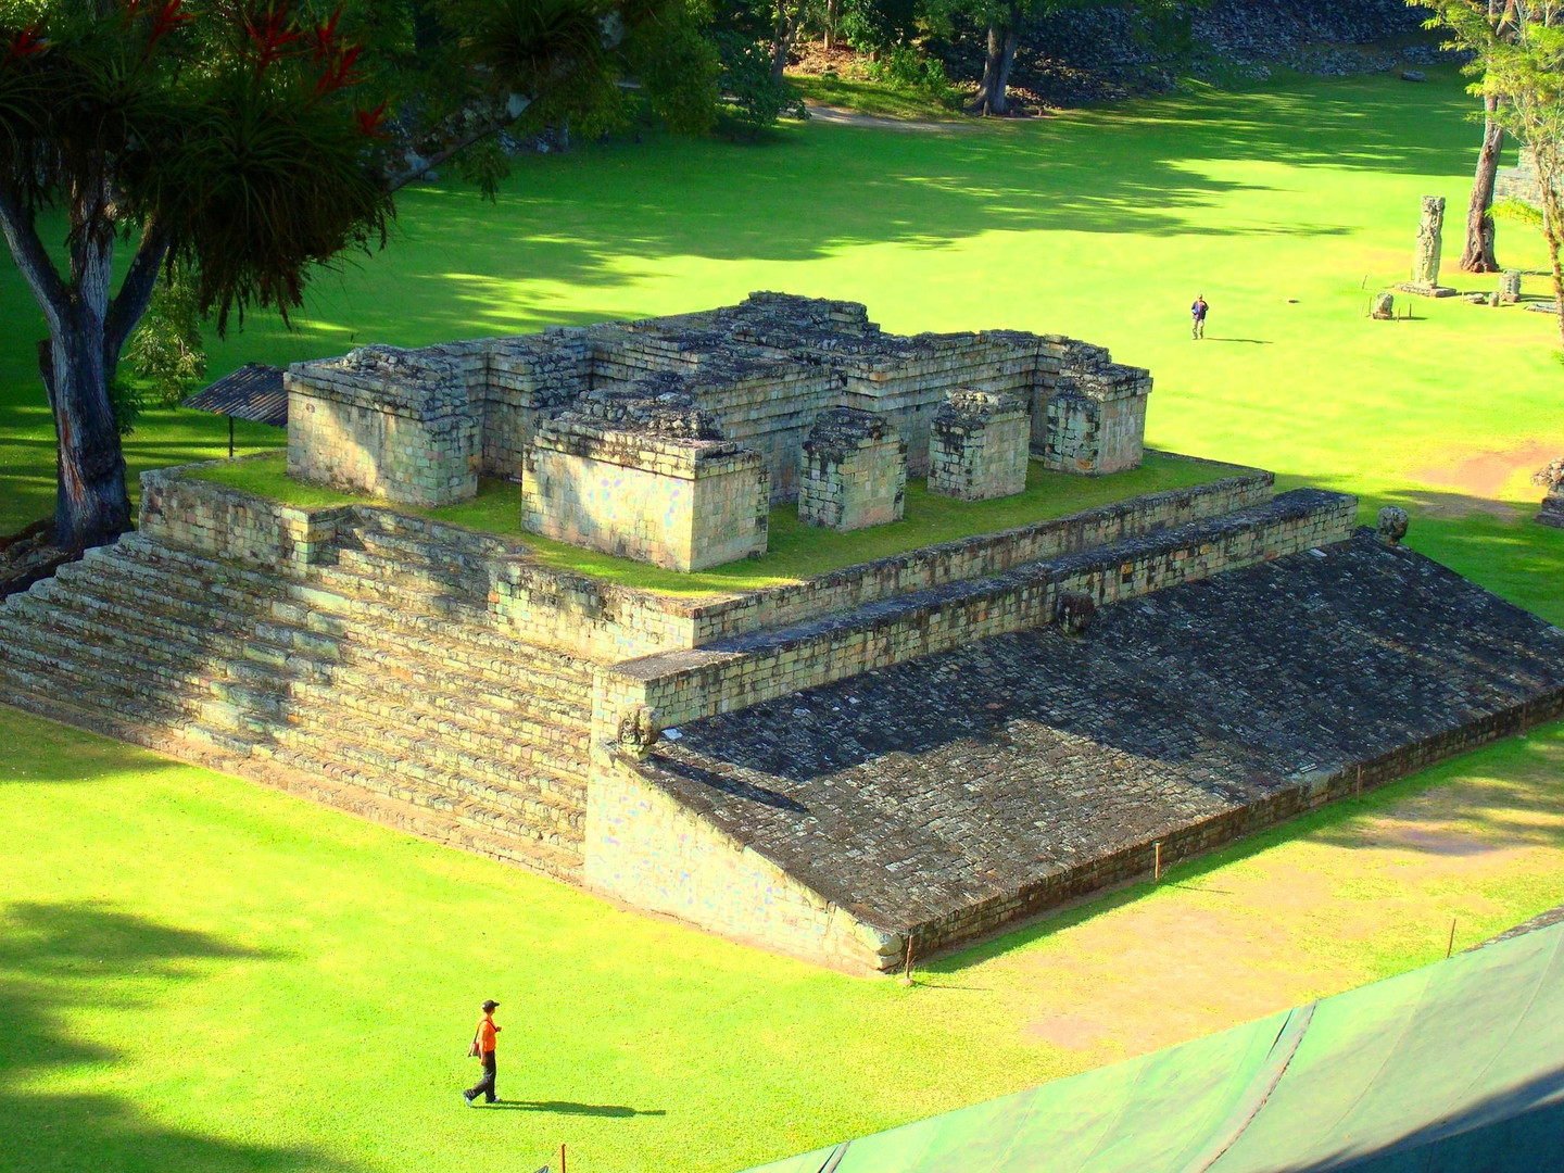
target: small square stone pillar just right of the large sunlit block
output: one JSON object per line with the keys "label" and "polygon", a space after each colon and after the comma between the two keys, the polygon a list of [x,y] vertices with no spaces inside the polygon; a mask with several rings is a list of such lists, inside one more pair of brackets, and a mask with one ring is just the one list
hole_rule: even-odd
{"label": "small square stone pillar just right of the large sunlit block", "polygon": [[823,411],[801,455],[799,521],[862,530],[901,521],[906,502],[907,444],[896,429],[851,407]]}

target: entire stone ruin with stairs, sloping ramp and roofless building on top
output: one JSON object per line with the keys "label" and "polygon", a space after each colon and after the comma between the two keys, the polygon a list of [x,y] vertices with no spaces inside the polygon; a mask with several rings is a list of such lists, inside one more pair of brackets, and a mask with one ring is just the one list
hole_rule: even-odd
{"label": "entire stone ruin with stairs, sloping ramp and roofless building on top", "polygon": [[1131,468],[1150,388],[1065,338],[776,294],[303,363],[289,468],[378,500],[142,474],[136,532],[0,602],[0,701],[856,973],[1564,715],[1564,630],[1409,549],[1404,510],[1192,457],[702,594],[396,505],[508,477],[532,532],[690,569],[763,551],[782,500],[854,529],[909,475]]}

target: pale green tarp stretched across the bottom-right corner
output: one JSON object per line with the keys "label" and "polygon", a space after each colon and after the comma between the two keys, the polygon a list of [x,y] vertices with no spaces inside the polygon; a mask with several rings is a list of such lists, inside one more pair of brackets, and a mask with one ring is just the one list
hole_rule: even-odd
{"label": "pale green tarp stretched across the bottom-right corner", "polygon": [[1564,924],[752,1173],[1564,1170]]}

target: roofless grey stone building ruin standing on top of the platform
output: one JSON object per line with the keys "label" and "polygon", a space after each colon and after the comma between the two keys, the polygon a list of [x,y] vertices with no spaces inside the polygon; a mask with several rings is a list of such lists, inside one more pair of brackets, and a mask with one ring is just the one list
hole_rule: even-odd
{"label": "roofless grey stone building ruin standing on top of the platform", "polygon": [[[981,500],[1026,468],[1140,465],[1151,377],[1013,330],[882,332],[856,302],[741,305],[418,350],[361,347],[286,375],[288,471],[408,505],[522,483],[527,530],[669,569],[766,549],[768,510],[901,518],[909,475]],[[849,435],[851,433],[851,435]]]}

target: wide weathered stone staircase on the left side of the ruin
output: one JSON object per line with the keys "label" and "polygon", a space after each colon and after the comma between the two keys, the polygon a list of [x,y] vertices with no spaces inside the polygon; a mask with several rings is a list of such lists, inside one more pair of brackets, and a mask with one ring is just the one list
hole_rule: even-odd
{"label": "wide weathered stone staircase on the left side of the ruin", "polygon": [[480,568],[404,521],[302,580],[89,551],[0,605],[0,701],[577,881],[594,665],[490,626]]}

